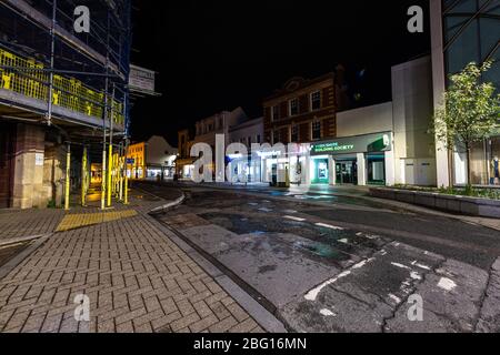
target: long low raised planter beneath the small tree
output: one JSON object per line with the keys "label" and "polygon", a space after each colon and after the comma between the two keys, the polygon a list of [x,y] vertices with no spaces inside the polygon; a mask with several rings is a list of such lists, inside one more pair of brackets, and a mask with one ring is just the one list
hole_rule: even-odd
{"label": "long low raised planter beneath the small tree", "polygon": [[394,200],[451,213],[500,219],[499,200],[454,196],[436,192],[409,191],[388,187],[371,187],[370,195],[373,197]]}

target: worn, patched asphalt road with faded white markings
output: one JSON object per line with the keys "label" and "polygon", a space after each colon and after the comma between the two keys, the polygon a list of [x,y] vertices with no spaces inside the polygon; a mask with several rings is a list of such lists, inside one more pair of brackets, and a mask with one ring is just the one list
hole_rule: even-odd
{"label": "worn, patched asphalt road with faded white markings", "polygon": [[[496,230],[366,197],[207,186],[187,195],[159,219],[271,304],[291,331],[500,329]],[[407,316],[414,294],[423,297],[422,322]]]}

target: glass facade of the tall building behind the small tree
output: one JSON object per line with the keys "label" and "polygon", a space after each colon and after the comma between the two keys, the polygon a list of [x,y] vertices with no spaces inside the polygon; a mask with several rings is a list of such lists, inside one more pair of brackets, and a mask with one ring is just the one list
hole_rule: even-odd
{"label": "glass facade of the tall building behind the small tree", "polygon": [[[461,71],[468,63],[492,60],[484,81],[500,90],[500,1],[443,0],[444,65],[447,75]],[[499,185],[498,155],[500,131],[491,139],[474,144],[471,152],[472,184]],[[466,183],[464,156],[454,154],[454,183]]]}

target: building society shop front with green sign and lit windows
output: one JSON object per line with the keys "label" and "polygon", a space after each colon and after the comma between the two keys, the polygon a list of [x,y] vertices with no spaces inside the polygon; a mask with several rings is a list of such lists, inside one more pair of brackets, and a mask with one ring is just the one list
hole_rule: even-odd
{"label": "building society shop front with green sign and lit windows", "polygon": [[[311,143],[311,184],[386,185],[393,169],[392,133],[382,132]],[[393,175],[393,174],[390,174]]]}

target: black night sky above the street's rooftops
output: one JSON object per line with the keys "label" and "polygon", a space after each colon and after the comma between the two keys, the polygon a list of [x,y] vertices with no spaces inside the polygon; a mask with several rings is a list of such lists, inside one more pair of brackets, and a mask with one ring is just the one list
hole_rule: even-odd
{"label": "black night sky above the street's rooftops", "polygon": [[[134,140],[177,131],[261,102],[291,77],[313,78],[342,63],[359,104],[391,98],[390,67],[430,50],[428,0],[136,0],[132,62],[159,72],[161,98],[132,109]],[[407,10],[424,10],[423,34],[407,31]],[[364,75],[357,75],[364,69]]]}

